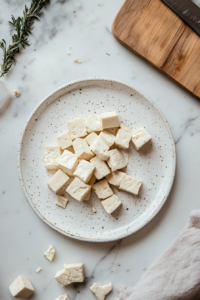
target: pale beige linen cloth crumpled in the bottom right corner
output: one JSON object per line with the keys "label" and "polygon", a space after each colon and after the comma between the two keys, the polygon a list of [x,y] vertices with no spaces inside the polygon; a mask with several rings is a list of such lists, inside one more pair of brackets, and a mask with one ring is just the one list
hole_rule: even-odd
{"label": "pale beige linen cloth crumpled in the bottom right corner", "polygon": [[200,300],[200,210],[138,284],[117,291],[115,300]]}

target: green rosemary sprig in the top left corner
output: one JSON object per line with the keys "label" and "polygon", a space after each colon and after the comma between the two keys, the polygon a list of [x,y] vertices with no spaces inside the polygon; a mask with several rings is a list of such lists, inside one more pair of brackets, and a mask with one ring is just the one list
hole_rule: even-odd
{"label": "green rosemary sprig in the top left corner", "polygon": [[20,49],[25,46],[30,46],[28,35],[31,34],[32,25],[35,20],[39,20],[38,14],[42,7],[50,0],[32,0],[30,7],[25,5],[23,17],[15,19],[11,16],[12,22],[9,22],[16,30],[12,36],[12,44],[6,48],[6,41],[0,41],[0,48],[3,51],[3,62],[0,64],[0,77],[9,72],[13,63],[15,62],[14,56],[20,52]]}

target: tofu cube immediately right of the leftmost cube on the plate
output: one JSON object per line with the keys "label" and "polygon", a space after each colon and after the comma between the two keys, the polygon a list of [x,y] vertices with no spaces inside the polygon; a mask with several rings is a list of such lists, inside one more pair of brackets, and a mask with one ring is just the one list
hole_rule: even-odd
{"label": "tofu cube immediately right of the leftmost cube on the plate", "polygon": [[78,156],[68,150],[64,150],[58,160],[58,164],[66,174],[71,176],[78,165]]}

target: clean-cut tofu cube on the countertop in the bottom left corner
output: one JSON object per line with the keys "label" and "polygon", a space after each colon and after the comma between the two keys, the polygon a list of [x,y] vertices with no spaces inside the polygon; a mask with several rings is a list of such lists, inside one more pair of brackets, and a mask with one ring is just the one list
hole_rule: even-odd
{"label": "clean-cut tofu cube on the countertop in the bottom left corner", "polygon": [[9,286],[10,292],[15,298],[28,299],[34,292],[34,288],[30,280],[25,276],[18,276]]}

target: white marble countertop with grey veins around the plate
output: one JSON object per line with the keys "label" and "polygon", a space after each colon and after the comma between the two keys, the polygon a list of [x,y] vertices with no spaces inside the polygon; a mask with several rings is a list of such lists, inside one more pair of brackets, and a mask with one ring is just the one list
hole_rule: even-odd
{"label": "white marble countertop with grey veins around the plate", "polygon": [[[0,38],[11,40],[7,21],[11,14],[21,15],[27,2],[1,1]],[[19,274],[32,281],[34,300],[54,300],[63,292],[72,300],[92,300],[92,282],[112,282],[114,291],[107,298],[112,299],[115,285],[139,281],[176,238],[191,210],[200,208],[200,102],[114,39],[111,25],[122,3],[52,0],[35,23],[31,47],[3,78],[10,93],[16,89],[21,96],[13,95],[0,116],[0,299],[12,299],[8,286]],[[30,113],[54,89],[87,77],[121,80],[148,95],[165,114],[176,141],[177,173],[166,204],[142,230],[112,243],[76,241],[49,228],[32,211],[18,178],[17,147]],[[53,263],[43,257],[49,244],[57,250]],[[83,262],[86,282],[59,287],[53,276],[64,262]],[[41,273],[36,273],[38,267]]]}

